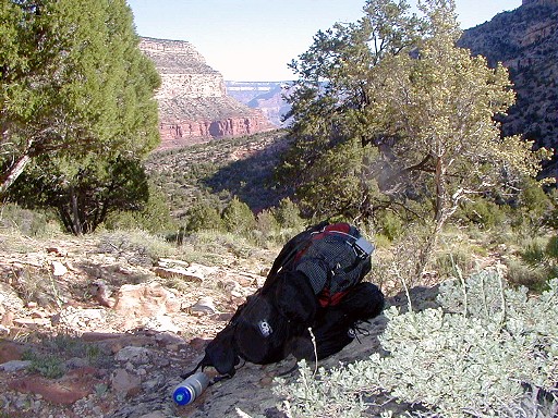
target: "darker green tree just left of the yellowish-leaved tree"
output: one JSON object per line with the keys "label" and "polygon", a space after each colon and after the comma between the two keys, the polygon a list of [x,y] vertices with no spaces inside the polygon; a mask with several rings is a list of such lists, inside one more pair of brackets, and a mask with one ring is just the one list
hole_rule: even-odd
{"label": "darker green tree just left of the yellowish-leaved tree", "polygon": [[375,151],[357,146],[359,112],[369,106],[369,76],[378,63],[415,45],[420,27],[404,1],[367,1],[359,22],[318,32],[291,63],[299,75],[288,97],[294,142],[278,175],[291,180],[306,214],[308,208],[318,217],[372,214],[377,187],[367,165]]}

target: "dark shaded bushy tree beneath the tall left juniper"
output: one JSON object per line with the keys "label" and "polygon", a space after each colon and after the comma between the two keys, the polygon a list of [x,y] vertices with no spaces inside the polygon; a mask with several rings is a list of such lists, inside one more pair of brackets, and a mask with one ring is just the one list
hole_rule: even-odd
{"label": "dark shaded bushy tree beneath the tall left juniper", "polygon": [[68,232],[90,233],[116,210],[140,210],[148,200],[147,176],[138,160],[39,159],[41,164],[14,183],[11,198],[31,208],[58,211]]}

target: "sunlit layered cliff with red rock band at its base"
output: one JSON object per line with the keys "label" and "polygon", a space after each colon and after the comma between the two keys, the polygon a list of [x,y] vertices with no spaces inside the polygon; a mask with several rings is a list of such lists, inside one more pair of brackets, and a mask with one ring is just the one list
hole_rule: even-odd
{"label": "sunlit layered cliff with red rock band at its base", "polygon": [[222,75],[207,65],[190,42],[142,38],[140,48],[155,62],[161,76],[156,95],[159,149],[274,128],[262,112],[227,96]]}

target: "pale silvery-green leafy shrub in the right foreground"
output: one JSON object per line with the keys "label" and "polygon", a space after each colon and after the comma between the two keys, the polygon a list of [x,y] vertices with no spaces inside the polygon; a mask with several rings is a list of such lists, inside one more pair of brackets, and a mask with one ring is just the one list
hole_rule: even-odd
{"label": "pale silvery-green leafy shrub in the right foreground", "polygon": [[277,386],[288,398],[288,414],[332,416],[347,408],[360,416],[366,399],[381,394],[407,403],[411,416],[548,414],[549,405],[536,405],[536,394],[553,390],[558,379],[558,323],[548,320],[558,315],[558,280],[530,298],[525,288],[509,288],[498,273],[485,271],[464,285],[445,282],[439,303],[421,312],[388,309],[380,336],[385,356],[320,369],[317,378],[302,364],[296,382]]}

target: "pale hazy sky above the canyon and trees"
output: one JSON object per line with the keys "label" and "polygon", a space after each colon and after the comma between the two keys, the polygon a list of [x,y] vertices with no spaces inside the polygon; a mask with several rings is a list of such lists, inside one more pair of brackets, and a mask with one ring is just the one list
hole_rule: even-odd
{"label": "pale hazy sky above the canyon and trees", "polygon": [[[466,29],[521,5],[521,0],[456,0]],[[319,29],[356,22],[365,0],[128,0],[137,33],[187,40],[228,81],[294,78],[289,62]],[[411,3],[415,1],[411,0]]]}

